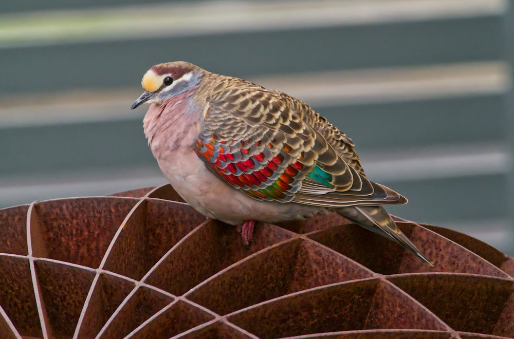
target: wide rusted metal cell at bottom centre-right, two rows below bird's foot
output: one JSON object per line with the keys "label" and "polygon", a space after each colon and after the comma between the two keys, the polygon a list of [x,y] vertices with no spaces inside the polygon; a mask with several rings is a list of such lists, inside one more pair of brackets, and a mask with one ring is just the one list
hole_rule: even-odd
{"label": "wide rusted metal cell at bottom centre-right, two rows below bird's foot", "polygon": [[[389,291],[384,293],[382,289]],[[263,338],[375,329],[386,324],[393,324],[393,328],[446,329],[418,304],[411,302],[399,308],[401,299],[405,301],[403,293],[384,286],[379,279],[364,279],[280,297],[227,318]],[[392,314],[384,316],[382,312]],[[392,322],[393,318],[397,321]]]}

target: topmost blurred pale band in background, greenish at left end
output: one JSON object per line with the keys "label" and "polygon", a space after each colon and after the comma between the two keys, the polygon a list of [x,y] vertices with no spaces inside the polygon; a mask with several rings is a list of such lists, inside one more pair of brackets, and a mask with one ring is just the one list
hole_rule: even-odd
{"label": "topmost blurred pale band in background, greenish at left end", "polygon": [[497,15],[506,0],[219,1],[0,15],[0,48]]}

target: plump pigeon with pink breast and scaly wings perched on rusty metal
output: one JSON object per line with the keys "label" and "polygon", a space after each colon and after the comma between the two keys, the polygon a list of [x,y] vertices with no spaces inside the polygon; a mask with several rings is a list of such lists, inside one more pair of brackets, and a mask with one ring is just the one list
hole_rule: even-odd
{"label": "plump pigeon with pink breast and scaly wings perched on rusty metal", "polygon": [[407,203],[369,180],[350,137],[281,91],[175,61],[152,66],[132,109],[176,192],[196,211],[235,225],[248,246],[256,221],[336,212],[434,263],[383,205]]}

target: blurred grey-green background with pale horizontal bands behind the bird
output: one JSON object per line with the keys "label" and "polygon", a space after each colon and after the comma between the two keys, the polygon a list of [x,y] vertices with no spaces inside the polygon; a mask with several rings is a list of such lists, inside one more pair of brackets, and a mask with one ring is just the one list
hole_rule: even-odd
{"label": "blurred grey-green background with pale horizontal bands behind the bird", "polygon": [[184,60],[296,96],[357,144],[389,211],[514,255],[507,0],[0,5],[0,208],[166,182],[130,110]]}

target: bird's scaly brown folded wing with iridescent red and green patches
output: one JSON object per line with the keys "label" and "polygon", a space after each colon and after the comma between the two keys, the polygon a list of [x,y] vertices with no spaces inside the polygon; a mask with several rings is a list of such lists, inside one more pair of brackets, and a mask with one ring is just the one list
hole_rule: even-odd
{"label": "bird's scaly brown folded wing with iridescent red and green patches", "polygon": [[406,202],[368,180],[350,139],[309,106],[231,78],[209,98],[195,152],[258,200],[333,208]]}

